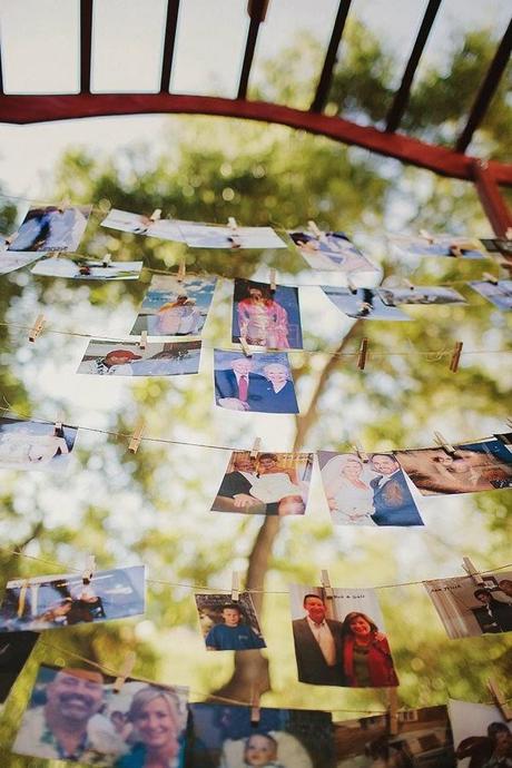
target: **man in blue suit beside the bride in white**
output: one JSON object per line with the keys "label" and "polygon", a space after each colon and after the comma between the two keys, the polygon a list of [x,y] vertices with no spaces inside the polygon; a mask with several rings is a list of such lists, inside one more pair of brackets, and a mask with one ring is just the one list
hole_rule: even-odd
{"label": "man in blue suit beside the bride in white", "polygon": [[423,525],[398,462],[387,453],[374,453],[372,467],[378,473],[373,489],[372,520],[376,525]]}

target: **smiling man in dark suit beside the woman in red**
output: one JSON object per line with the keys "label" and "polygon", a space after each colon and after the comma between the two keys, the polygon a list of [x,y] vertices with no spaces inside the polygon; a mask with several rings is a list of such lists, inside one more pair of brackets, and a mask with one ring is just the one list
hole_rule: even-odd
{"label": "smiling man in dark suit beside the woman in red", "polygon": [[343,686],[342,623],[325,618],[325,602],[317,594],[306,594],[303,604],[307,616],[292,622],[298,679],[315,686]]}

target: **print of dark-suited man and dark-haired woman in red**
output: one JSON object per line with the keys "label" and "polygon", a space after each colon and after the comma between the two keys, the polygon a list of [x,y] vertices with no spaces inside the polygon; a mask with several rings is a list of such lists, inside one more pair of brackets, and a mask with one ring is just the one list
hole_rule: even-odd
{"label": "print of dark-suited man and dark-haired woman in red", "polygon": [[398,685],[373,589],[292,584],[292,628],[298,680],[314,686],[394,688]]}

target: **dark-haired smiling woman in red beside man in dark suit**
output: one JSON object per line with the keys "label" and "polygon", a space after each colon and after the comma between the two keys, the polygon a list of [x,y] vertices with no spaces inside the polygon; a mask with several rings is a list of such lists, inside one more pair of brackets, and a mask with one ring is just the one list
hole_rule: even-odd
{"label": "dark-haired smiling woman in red beside man in dark suit", "polygon": [[347,613],[342,627],[343,673],[351,688],[398,685],[386,636],[365,613]]}

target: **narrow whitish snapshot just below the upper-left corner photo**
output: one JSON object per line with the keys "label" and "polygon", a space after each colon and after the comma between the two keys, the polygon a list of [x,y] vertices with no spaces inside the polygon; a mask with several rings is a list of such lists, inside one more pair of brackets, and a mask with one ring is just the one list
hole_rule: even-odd
{"label": "narrow whitish snapshot just below the upper-left corner photo", "polygon": [[42,258],[31,269],[32,275],[72,277],[82,280],[136,280],[142,262],[101,262],[81,256]]}

